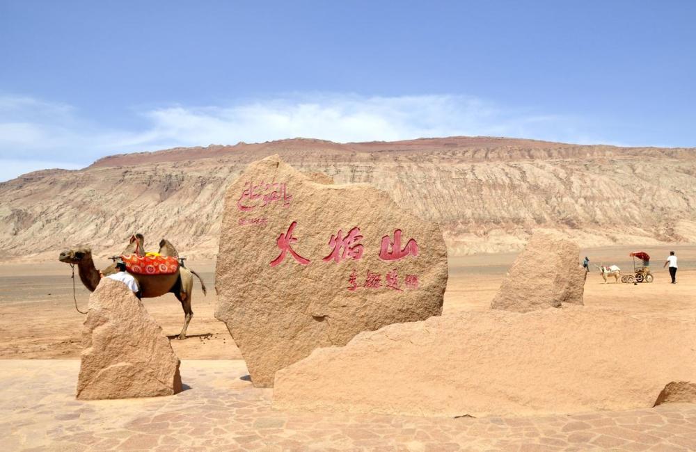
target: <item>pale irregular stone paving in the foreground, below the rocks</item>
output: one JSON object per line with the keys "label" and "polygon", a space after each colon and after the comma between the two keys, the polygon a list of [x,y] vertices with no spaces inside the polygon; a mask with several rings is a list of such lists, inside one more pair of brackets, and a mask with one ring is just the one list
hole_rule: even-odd
{"label": "pale irregular stone paving in the foreground, below the rocks", "polygon": [[696,405],[503,419],[271,408],[242,361],[184,361],[176,396],[77,401],[77,360],[0,361],[0,444],[19,450],[693,451]]}

